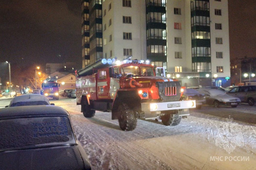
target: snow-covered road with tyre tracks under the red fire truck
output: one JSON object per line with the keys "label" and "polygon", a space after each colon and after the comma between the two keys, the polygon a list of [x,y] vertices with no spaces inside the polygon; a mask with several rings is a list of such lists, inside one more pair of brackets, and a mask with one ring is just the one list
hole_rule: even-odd
{"label": "snow-covered road with tyre tracks under the red fire truck", "polygon": [[50,102],[69,112],[92,169],[256,169],[256,106],[204,106],[177,126],[138,120],[127,132],[111,113],[85,118],[75,99]]}

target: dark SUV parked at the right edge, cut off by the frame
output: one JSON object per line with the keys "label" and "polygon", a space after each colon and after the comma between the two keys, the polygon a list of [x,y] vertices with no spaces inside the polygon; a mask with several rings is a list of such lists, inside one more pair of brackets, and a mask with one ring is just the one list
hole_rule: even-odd
{"label": "dark SUV parked at the right edge, cut off by the frame", "polygon": [[227,94],[238,97],[241,102],[248,103],[250,106],[253,106],[256,100],[256,86],[234,87]]}

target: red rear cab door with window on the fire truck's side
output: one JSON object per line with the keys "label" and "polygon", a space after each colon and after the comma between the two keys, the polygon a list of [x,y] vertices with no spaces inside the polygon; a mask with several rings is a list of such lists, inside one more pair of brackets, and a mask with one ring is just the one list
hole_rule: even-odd
{"label": "red rear cab door with window on the fire truck's side", "polygon": [[98,99],[110,99],[110,76],[109,70],[99,69],[98,70],[98,81],[97,81],[97,95]]}

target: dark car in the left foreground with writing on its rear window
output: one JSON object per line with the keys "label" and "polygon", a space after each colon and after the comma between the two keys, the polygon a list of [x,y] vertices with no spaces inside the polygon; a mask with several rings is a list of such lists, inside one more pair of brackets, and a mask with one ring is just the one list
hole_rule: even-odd
{"label": "dark car in the left foreground with writing on its rear window", "polygon": [[67,111],[58,106],[0,109],[0,169],[91,169]]}

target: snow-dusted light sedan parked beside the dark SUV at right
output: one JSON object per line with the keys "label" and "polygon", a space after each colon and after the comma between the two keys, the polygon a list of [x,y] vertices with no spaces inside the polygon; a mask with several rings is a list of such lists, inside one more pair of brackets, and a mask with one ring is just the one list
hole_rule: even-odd
{"label": "snow-dusted light sedan parked beside the dark SUV at right", "polygon": [[206,96],[206,103],[214,107],[220,107],[220,105],[229,105],[231,107],[237,107],[241,103],[238,97],[227,95],[224,91],[217,89],[198,89],[199,93]]}

